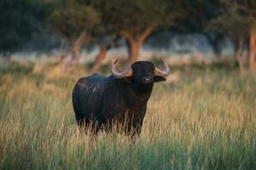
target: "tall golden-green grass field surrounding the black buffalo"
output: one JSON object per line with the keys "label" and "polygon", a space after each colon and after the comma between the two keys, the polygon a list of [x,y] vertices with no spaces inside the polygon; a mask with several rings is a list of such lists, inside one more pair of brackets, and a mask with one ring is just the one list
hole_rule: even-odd
{"label": "tall golden-green grass field surrounding the black buffalo", "polygon": [[177,71],[175,85],[154,86],[131,144],[119,133],[79,131],[71,102],[79,75],[0,70],[0,169],[256,169],[256,77]]}

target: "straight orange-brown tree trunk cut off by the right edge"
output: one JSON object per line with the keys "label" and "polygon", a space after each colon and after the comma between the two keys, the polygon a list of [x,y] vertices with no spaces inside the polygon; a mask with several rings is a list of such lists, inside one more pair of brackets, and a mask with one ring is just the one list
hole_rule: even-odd
{"label": "straight orange-brown tree trunk cut off by the right edge", "polygon": [[250,71],[256,73],[256,28],[250,33],[250,52],[249,52]]}

